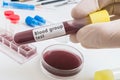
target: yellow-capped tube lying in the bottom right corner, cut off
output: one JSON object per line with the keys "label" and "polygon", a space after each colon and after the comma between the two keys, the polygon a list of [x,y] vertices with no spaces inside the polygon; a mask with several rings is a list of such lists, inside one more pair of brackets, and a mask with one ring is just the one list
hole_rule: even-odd
{"label": "yellow-capped tube lying in the bottom right corner, cut off", "polygon": [[120,68],[96,71],[94,80],[120,80]]}

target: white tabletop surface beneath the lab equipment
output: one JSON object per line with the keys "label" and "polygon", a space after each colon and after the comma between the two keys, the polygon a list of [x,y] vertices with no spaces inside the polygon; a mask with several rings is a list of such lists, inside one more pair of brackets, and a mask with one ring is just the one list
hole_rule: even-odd
{"label": "white tabletop surface beneath the lab equipment", "polygon": [[[56,23],[65,20],[70,20],[71,9],[75,5],[65,5],[62,7],[44,7],[37,11],[17,10],[14,9],[16,14],[19,14],[22,19],[26,16],[34,16],[39,14],[45,17],[49,22]],[[3,13],[6,8],[0,8],[0,13]],[[2,21],[3,15],[0,14],[0,27],[4,26]],[[62,40],[61,40],[62,39]],[[96,70],[111,69],[120,67],[120,48],[117,49],[85,49],[80,44],[71,43],[67,36],[58,39],[51,39],[41,42],[33,43],[37,47],[38,55],[29,62],[21,65],[12,60],[4,53],[0,52],[0,80],[57,80],[48,78],[44,75],[40,68],[40,54],[45,47],[55,44],[63,43],[76,47],[84,56],[84,67],[74,80],[93,80],[93,75]],[[73,79],[72,79],[73,80]]]}

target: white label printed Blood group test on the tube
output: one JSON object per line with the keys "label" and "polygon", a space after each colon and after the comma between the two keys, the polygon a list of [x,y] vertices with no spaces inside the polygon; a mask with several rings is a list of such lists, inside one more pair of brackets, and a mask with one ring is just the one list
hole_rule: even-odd
{"label": "white label printed Blood group test on the tube", "polygon": [[65,28],[63,23],[45,26],[33,30],[33,36],[36,41],[55,38],[57,36],[65,35]]}

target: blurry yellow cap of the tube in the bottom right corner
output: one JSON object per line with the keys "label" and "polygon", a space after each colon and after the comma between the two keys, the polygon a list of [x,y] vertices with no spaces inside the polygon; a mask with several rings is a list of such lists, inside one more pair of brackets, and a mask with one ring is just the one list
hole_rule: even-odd
{"label": "blurry yellow cap of the tube in the bottom right corner", "polygon": [[114,80],[114,75],[111,70],[96,71],[94,80]]}

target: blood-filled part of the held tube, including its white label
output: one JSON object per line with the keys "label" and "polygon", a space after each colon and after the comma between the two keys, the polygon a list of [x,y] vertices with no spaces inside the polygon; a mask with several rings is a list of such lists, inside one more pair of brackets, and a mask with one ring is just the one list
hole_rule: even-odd
{"label": "blood-filled part of the held tube, including its white label", "polygon": [[[48,25],[32,30],[16,33],[14,41],[18,44],[32,43],[76,33],[84,24],[73,24],[72,21]],[[24,35],[24,36],[23,36]]]}

